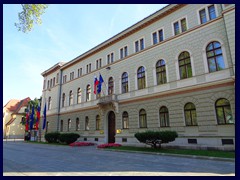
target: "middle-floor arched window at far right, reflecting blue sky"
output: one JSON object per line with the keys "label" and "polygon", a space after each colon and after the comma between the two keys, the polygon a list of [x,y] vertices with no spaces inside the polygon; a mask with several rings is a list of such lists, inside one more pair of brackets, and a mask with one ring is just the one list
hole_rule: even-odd
{"label": "middle-floor arched window at far right, reflecting blue sky", "polygon": [[211,42],[206,48],[209,72],[220,71],[225,68],[221,44],[217,41]]}

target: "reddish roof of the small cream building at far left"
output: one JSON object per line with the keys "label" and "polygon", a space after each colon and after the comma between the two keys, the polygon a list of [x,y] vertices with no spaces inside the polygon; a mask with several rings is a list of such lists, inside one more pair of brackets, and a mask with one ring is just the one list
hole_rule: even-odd
{"label": "reddish roof of the small cream building at far left", "polygon": [[4,107],[13,113],[17,113],[22,107],[27,106],[30,100],[29,97],[22,100],[11,99]]}

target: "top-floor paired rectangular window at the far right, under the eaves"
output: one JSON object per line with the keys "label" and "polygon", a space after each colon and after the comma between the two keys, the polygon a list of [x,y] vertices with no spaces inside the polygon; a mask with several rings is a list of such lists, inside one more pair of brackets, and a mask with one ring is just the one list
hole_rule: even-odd
{"label": "top-floor paired rectangular window at the far right, under the eaves", "polygon": [[214,5],[205,7],[199,11],[200,23],[206,23],[209,20],[215,19],[217,17]]}

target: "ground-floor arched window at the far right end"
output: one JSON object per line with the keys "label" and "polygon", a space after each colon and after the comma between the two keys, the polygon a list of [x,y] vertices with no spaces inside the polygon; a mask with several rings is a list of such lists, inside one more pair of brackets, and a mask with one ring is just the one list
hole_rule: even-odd
{"label": "ground-floor arched window at the far right end", "polygon": [[232,124],[233,116],[227,99],[218,99],[215,103],[218,124]]}

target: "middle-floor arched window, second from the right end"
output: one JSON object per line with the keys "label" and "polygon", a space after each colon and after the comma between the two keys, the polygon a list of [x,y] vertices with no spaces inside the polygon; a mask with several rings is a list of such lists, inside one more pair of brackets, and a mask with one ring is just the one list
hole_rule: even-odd
{"label": "middle-floor arched window, second from the right end", "polygon": [[178,57],[178,63],[180,79],[192,77],[192,67],[189,52],[182,52]]}

